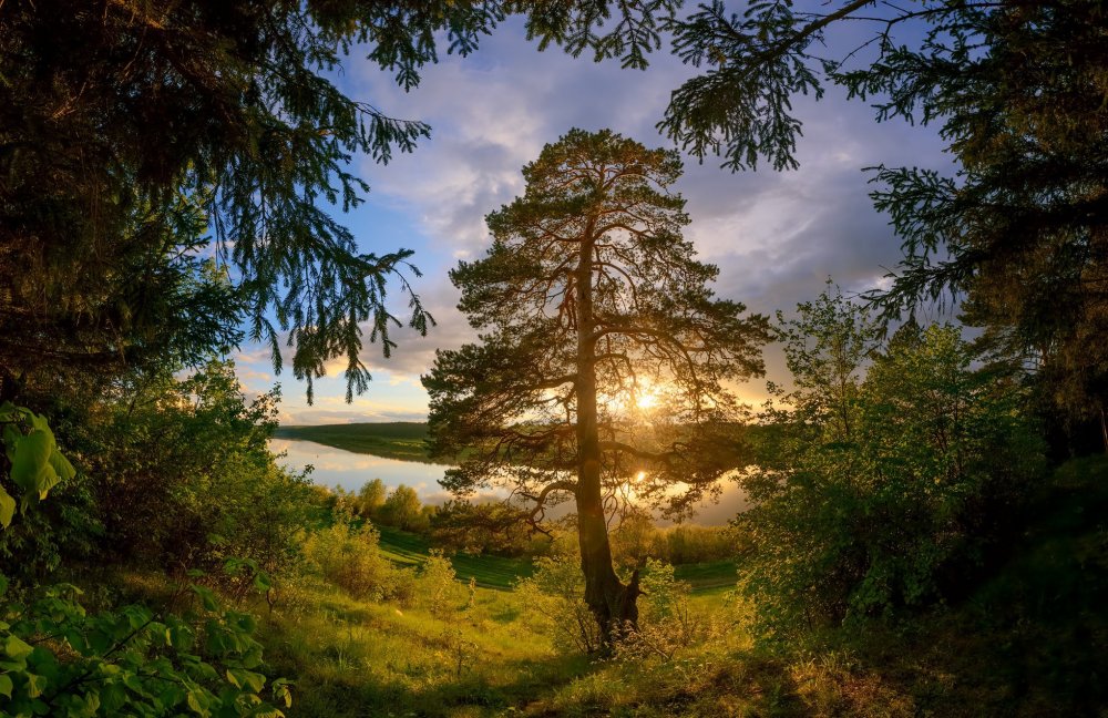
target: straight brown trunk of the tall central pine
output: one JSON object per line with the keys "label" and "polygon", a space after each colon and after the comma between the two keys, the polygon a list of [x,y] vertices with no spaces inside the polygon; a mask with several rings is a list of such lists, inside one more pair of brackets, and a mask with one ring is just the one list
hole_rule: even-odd
{"label": "straight brown trunk of the tall central pine", "polygon": [[608,526],[601,493],[601,441],[596,409],[596,321],[593,316],[593,225],[581,242],[577,300],[577,540],[585,575],[585,603],[601,628],[604,646],[638,625],[638,571],[624,585],[612,565]]}

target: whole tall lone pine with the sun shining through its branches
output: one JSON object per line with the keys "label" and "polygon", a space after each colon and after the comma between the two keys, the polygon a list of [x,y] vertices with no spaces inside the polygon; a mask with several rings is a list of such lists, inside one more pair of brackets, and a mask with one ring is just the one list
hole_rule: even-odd
{"label": "whole tall lone pine with the sun shining through its branches", "polygon": [[[715,267],[681,238],[671,151],[573,130],[526,165],[522,197],[488,217],[493,245],[451,280],[479,343],[439,351],[423,383],[434,450],[471,448],[444,485],[507,483],[532,520],[575,502],[586,601],[605,632],[633,619],[605,509],[683,514],[737,459],[732,382],[762,370],[760,316],[714,297]],[[653,409],[653,410],[652,410]]]}

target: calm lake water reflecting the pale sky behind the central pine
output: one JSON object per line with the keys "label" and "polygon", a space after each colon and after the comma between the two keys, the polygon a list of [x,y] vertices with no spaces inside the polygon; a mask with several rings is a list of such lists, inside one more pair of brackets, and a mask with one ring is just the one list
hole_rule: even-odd
{"label": "calm lake water reflecting the pale sky behind the central pine", "polygon": [[[439,485],[439,479],[442,479],[443,472],[450,468],[442,464],[384,459],[343,451],[311,441],[289,439],[274,439],[269,442],[269,448],[276,453],[285,452],[286,455],[280,460],[280,463],[294,471],[299,471],[308,464],[315,466],[311,480],[321,486],[341,486],[347,491],[358,491],[367,481],[380,479],[389,488],[400,484],[411,486],[423,503],[441,504],[451,498]],[[701,504],[690,523],[726,524],[735,517],[735,514],[747,506],[746,496],[735,482],[725,481],[722,489],[719,502]],[[482,492],[480,498],[504,498],[505,495],[504,491]],[[570,505],[566,503],[557,509],[567,510]],[[562,511],[552,511],[547,512],[547,516],[561,515],[561,513]],[[659,525],[668,524],[665,521],[658,523]]]}

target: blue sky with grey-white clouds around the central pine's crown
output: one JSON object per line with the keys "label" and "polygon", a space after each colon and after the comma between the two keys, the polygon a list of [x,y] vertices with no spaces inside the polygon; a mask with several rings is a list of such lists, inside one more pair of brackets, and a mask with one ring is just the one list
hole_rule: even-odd
{"label": "blue sky with grey-white clouds around the central pine's crown", "polygon": [[[852,39],[829,41],[845,47]],[[432,135],[388,165],[357,160],[355,170],[372,189],[340,219],[362,252],[414,250],[412,261],[422,276],[409,279],[438,326],[425,338],[396,331],[399,347],[389,359],[379,345],[367,343],[362,359],[373,380],[349,404],[345,359],[317,380],[315,402],[308,406],[302,382],[287,370],[274,375],[267,348],[245,346],[236,357],[245,388],[266,391],[279,382],[285,424],[424,420],[427,393],[419,378],[430,369],[434,350],[475,338],[455,308],[459,291],[448,270],[459,259],[483,255],[490,245],[484,216],[523,193],[523,165],[570,129],[608,127],[649,147],[673,146],[655,124],[669,93],[696,69],[667,50],[653,55],[646,71],[622,70],[617,61],[594,63],[556,49],[538,52],[525,40],[522,23],[510,20],[478,52],[443,54],[407,93],[365,53],[348,58],[335,80],[349,96],[391,116],[428,122]],[[837,88],[828,88],[818,103],[799,99],[796,110],[804,133],[799,170],[731,173],[719,167],[718,158],[700,164],[685,156],[685,175],[675,187],[693,219],[685,236],[700,259],[719,267],[716,294],[768,315],[814,299],[828,277],[848,293],[882,286],[896,265],[900,242],[888,218],[871,206],[864,167],[951,168],[933,129],[902,121],[878,124],[866,103],[848,101]],[[396,283],[390,299],[393,314],[404,318],[407,298]],[[787,380],[779,349],[768,348],[766,362],[768,379]],[[765,380],[738,391],[760,401]]]}

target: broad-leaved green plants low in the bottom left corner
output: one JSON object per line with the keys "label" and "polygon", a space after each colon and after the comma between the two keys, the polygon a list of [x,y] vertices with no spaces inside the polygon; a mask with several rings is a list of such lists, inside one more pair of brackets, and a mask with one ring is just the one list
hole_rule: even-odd
{"label": "broad-leaved green plants low in the bottom left corner", "polygon": [[[0,576],[0,599],[7,579]],[[0,716],[280,716],[288,681],[260,673],[255,618],[193,586],[177,615],[142,605],[90,615],[57,585],[0,613]],[[266,690],[266,684],[269,689]]]}

